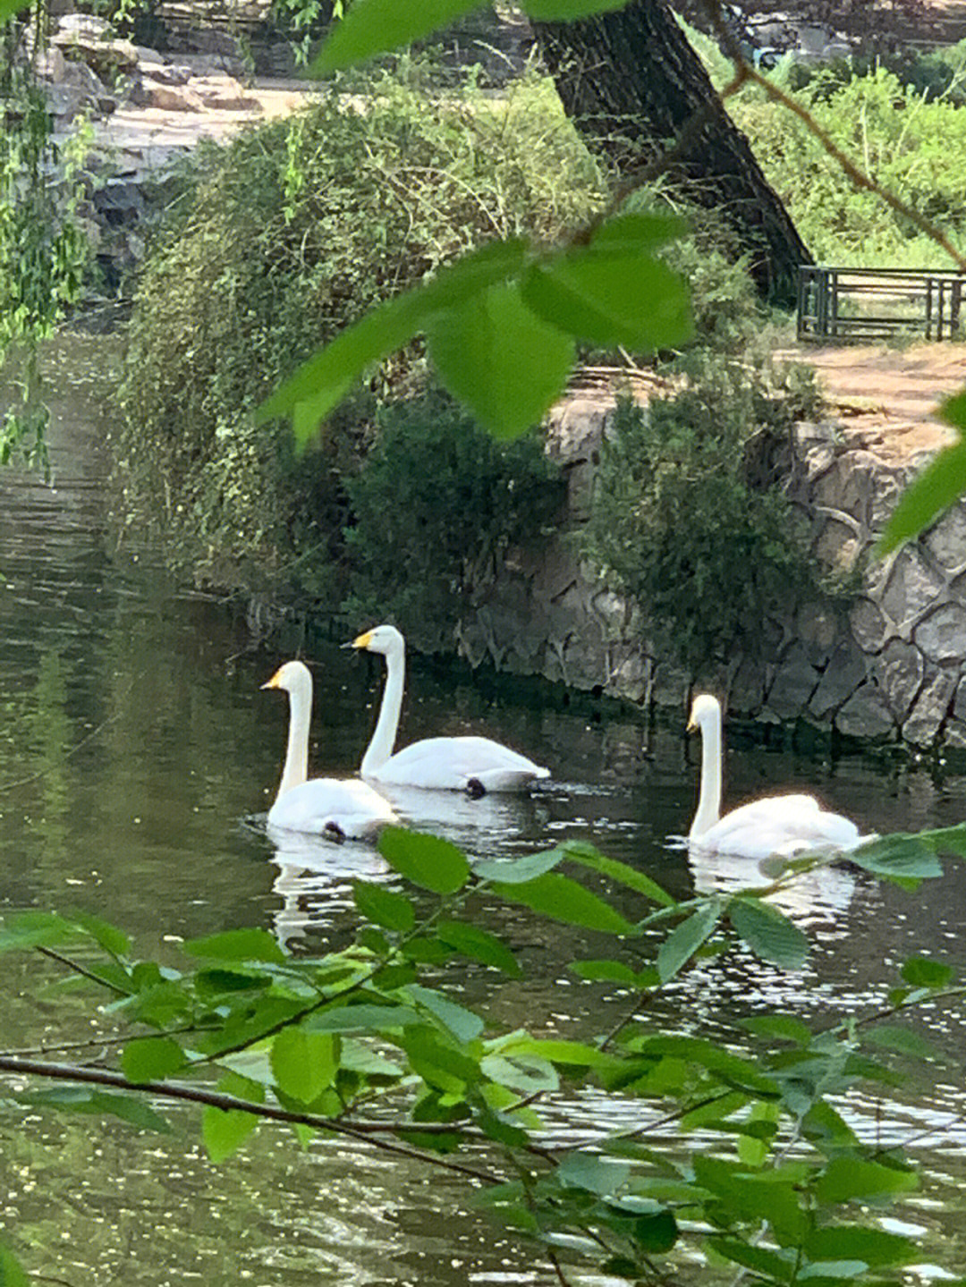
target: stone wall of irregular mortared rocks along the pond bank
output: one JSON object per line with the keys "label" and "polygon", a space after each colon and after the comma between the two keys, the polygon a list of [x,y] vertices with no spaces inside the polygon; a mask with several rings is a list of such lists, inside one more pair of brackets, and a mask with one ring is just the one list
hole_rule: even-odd
{"label": "stone wall of irregular mortared rocks along the pond bank", "polygon": [[831,421],[797,426],[788,495],[810,523],[814,556],[862,569],[858,593],[848,607],[801,604],[794,619],[768,622],[765,663],[734,658],[692,677],[653,654],[639,613],[579,557],[611,407],[576,395],[554,411],[551,450],[569,479],[566,532],[512,551],[477,587],[476,611],[459,632],[472,664],[489,660],[644,707],[683,708],[700,682],[724,695],[732,713],[760,721],[966,748],[966,506],[885,561],[871,557],[922,459],[881,461]]}

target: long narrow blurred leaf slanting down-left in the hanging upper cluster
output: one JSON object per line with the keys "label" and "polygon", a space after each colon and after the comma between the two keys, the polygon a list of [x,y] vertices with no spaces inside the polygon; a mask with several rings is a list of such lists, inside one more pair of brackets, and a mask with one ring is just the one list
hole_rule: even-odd
{"label": "long narrow blurred leaf slanting down-left in the hanging upper cluster", "polygon": [[288,416],[309,402],[314,423],[302,425],[297,438],[305,447],[319,421],[338,405],[367,367],[401,349],[441,309],[518,273],[525,256],[524,241],[491,242],[440,269],[430,282],[372,309],[279,385],[256,411],[256,423]]}

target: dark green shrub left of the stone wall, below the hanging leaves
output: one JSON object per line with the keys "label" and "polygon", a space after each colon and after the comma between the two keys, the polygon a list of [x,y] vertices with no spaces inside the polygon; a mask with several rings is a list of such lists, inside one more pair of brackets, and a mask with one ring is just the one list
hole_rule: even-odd
{"label": "dark green shrub left of the stone wall, below the hanging leaves", "polygon": [[394,618],[423,649],[449,642],[486,561],[553,525],[563,502],[539,435],[498,443],[441,393],[382,412],[346,490],[346,611]]}

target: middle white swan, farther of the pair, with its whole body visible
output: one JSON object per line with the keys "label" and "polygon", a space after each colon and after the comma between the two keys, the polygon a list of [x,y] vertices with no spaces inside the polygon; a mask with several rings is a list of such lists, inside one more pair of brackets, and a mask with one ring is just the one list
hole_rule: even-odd
{"label": "middle white swan, farther of the pair, with its whole body visible", "polygon": [[485,795],[488,792],[525,792],[535,779],[551,776],[548,768],[490,737],[424,737],[394,755],[403,709],[405,640],[395,625],[377,625],[352,640],[351,646],[386,658],[386,689],[376,731],[363,755],[363,777],[394,786]]}

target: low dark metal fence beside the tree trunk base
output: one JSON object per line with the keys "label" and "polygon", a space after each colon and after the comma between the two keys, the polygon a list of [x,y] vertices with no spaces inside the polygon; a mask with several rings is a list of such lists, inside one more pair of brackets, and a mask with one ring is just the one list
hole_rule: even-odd
{"label": "low dark metal fence beside the tree trunk base", "polygon": [[799,340],[962,340],[966,273],[904,268],[799,269]]}

